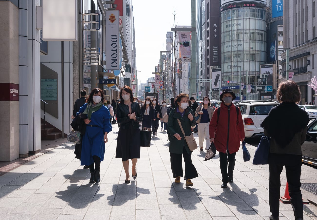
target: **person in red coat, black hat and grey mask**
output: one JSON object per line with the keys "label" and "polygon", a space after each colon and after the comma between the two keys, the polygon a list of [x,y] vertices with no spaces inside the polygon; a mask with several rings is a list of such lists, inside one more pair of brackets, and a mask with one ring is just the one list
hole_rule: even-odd
{"label": "person in red coat, black hat and grey mask", "polygon": [[240,141],[244,141],[242,115],[232,103],[234,99],[235,93],[231,89],[224,89],[219,97],[222,100],[220,107],[216,108],[209,124],[210,143],[214,142],[219,151],[221,188],[227,188],[227,183],[233,182],[236,152],[240,148]]}

